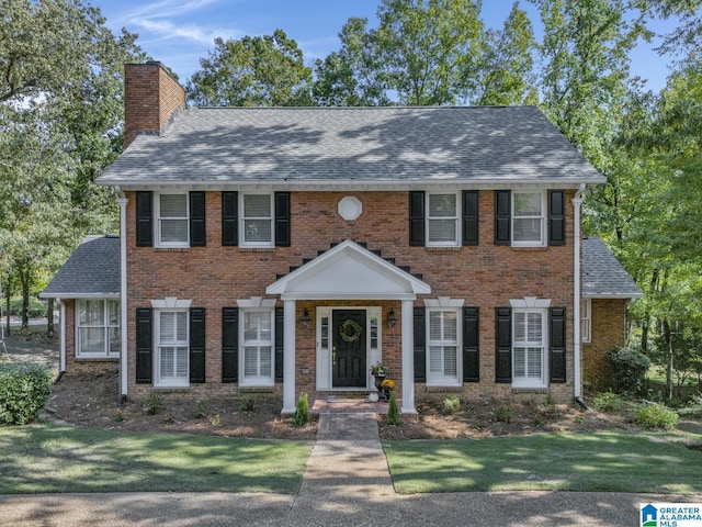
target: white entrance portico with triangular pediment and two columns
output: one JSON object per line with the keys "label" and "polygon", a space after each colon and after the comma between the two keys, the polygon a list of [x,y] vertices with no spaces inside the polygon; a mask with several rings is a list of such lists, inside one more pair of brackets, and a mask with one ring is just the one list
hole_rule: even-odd
{"label": "white entrance portico with triangular pediment and two columns", "polygon": [[[403,413],[416,413],[412,306],[417,294],[429,294],[431,292],[430,285],[354,242],[346,240],[276,280],[267,288],[265,292],[272,295],[280,295],[285,306],[283,324],[285,333],[283,337],[283,413],[295,412],[295,305],[297,301],[354,301],[353,303],[358,302],[359,307],[363,306],[363,301],[401,301],[401,411]],[[347,303],[344,302],[344,304]],[[353,310],[353,306],[344,306],[344,309],[361,311]],[[330,312],[333,313],[333,310],[330,310]],[[365,313],[369,313],[367,310]],[[378,325],[381,325],[380,321],[385,319],[385,317],[386,314],[381,313]],[[333,326],[333,316],[330,317],[329,323]],[[343,324],[343,321],[339,324]],[[356,321],[356,324],[360,323]],[[346,328],[347,335],[352,338],[356,329],[352,327],[353,324],[349,324],[349,326]],[[339,326],[337,329],[341,329],[341,327]],[[359,336],[359,338],[361,337]],[[367,335],[365,336],[365,341],[369,341]],[[333,338],[329,338],[331,347],[333,347],[332,343]],[[378,346],[382,350],[382,343]],[[333,349],[331,351],[333,354]],[[318,374],[320,368],[319,358],[318,356]],[[373,363],[375,361],[373,359],[382,360],[382,356],[377,358],[371,357],[366,350],[366,365],[364,367],[366,377],[367,365],[369,362]],[[330,357],[330,360],[333,362],[333,357]],[[333,370],[333,363],[330,365],[330,371]],[[339,388],[333,385],[333,375],[328,379],[331,381],[329,389]]]}

